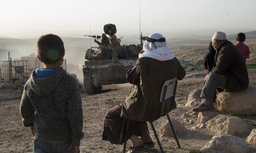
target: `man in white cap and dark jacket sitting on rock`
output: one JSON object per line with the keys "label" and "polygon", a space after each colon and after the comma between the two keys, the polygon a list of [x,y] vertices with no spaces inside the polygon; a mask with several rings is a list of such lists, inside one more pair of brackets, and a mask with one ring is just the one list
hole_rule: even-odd
{"label": "man in white cap and dark jacket sitting on rock", "polygon": [[228,92],[243,90],[248,87],[249,78],[243,56],[233,43],[227,41],[226,34],[217,31],[212,38],[213,48],[216,50],[213,69],[205,76],[205,84],[200,97],[201,104],[195,112],[213,110],[213,96],[217,88]]}

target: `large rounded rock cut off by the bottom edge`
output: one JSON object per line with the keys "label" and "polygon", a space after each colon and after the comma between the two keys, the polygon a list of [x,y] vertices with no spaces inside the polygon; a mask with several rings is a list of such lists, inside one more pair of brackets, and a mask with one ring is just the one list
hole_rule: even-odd
{"label": "large rounded rock cut off by the bottom edge", "polygon": [[237,136],[229,134],[218,134],[213,136],[211,140],[201,149],[202,153],[246,153],[249,147],[245,140]]}

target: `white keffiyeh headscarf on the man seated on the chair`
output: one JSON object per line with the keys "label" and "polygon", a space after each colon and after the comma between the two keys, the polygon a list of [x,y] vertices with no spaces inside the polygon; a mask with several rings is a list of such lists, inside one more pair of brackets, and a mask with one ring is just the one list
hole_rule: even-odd
{"label": "white keffiyeh headscarf on the man seated on the chair", "polygon": [[171,53],[166,42],[159,42],[157,40],[163,39],[163,35],[160,33],[153,33],[149,35],[150,39],[154,39],[155,42],[145,41],[143,44],[144,53],[139,54],[139,59],[142,57],[150,57],[157,59],[158,61],[167,61],[173,59],[175,56]]}

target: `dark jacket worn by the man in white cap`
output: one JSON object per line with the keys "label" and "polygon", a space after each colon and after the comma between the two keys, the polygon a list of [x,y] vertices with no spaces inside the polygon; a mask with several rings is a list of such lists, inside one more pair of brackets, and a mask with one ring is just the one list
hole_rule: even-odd
{"label": "dark jacket worn by the man in white cap", "polygon": [[248,87],[249,77],[245,61],[233,43],[225,41],[215,54],[211,73],[227,76],[226,91],[235,92]]}

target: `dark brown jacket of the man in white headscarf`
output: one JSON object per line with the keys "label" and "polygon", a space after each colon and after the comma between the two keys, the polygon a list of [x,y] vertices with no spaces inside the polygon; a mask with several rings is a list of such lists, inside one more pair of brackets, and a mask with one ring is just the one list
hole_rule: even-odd
{"label": "dark brown jacket of the man in white headscarf", "polygon": [[[148,57],[138,59],[135,67],[127,73],[127,80],[135,85],[123,104],[121,116],[139,121],[155,120],[160,112],[163,83],[173,78],[181,80],[184,76],[185,69],[176,58],[169,61]],[[169,110],[171,108],[165,106],[163,112]]]}

